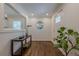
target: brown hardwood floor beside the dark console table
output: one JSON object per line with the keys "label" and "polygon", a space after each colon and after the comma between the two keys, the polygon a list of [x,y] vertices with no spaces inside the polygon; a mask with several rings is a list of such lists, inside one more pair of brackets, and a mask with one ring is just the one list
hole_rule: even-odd
{"label": "brown hardwood floor beside the dark console table", "polygon": [[24,52],[24,56],[63,56],[50,41],[34,41],[32,46]]}

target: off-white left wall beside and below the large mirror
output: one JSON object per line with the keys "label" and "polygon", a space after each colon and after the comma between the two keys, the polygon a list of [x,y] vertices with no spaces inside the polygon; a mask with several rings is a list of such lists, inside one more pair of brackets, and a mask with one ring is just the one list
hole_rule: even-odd
{"label": "off-white left wall beside and below the large mirror", "polygon": [[10,55],[10,41],[13,38],[24,35],[24,31],[4,31],[4,5],[0,4],[0,56]]}

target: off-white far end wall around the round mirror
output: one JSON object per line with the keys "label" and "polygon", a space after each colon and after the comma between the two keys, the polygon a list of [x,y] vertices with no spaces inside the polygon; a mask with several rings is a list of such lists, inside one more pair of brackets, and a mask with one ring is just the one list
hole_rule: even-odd
{"label": "off-white far end wall around the round mirror", "polygon": [[[39,31],[36,27],[37,21],[41,20],[44,23],[43,30]],[[32,34],[34,41],[50,41],[51,36],[51,19],[50,18],[28,18],[27,24],[32,25],[29,31]]]}

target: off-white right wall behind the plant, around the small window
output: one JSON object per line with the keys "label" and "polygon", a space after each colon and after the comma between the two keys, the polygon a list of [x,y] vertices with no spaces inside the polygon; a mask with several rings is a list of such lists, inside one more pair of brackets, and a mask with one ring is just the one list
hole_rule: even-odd
{"label": "off-white right wall behind the plant, around the small window", "polygon": [[[55,13],[52,18],[54,21],[54,35],[57,35],[56,31],[60,26],[65,26],[79,32],[79,4],[64,4],[61,9],[63,10],[59,13]],[[55,23],[55,15],[61,16],[61,22]],[[70,55],[77,54],[76,50],[70,53]]]}

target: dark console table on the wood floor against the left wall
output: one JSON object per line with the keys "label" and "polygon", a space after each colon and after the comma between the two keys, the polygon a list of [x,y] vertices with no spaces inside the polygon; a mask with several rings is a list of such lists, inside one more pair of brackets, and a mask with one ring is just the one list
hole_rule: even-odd
{"label": "dark console table on the wood floor against the left wall", "polygon": [[[28,38],[30,38],[29,42],[27,42]],[[19,42],[21,44],[21,46],[17,49],[16,52],[14,52],[14,42],[16,42],[16,43]],[[20,56],[22,56],[23,49],[29,48],[31,46],[31,43],[32,43],[32,36],[31,35],[20,36],[15,39],[12,39],[11,40],[11,55],[17,56],[18,55],[17,53],[20,52]]]}

